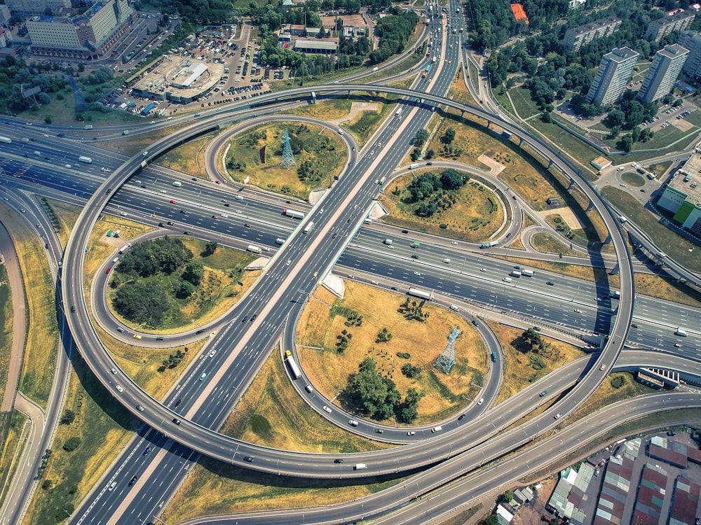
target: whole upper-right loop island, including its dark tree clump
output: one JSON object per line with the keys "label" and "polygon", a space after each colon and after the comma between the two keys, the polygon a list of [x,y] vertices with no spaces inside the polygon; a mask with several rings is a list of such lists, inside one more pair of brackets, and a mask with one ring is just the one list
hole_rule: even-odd
{"label": "whole upper-right loop island, including its dark tree clump", "polygon": [[[462,176],[461,183],[449,174]],[[454,169],[404,174],[390,183],[381,202],[389,211],[386,223],[466,241],[489,239],[504,224],[500,196]]]}

